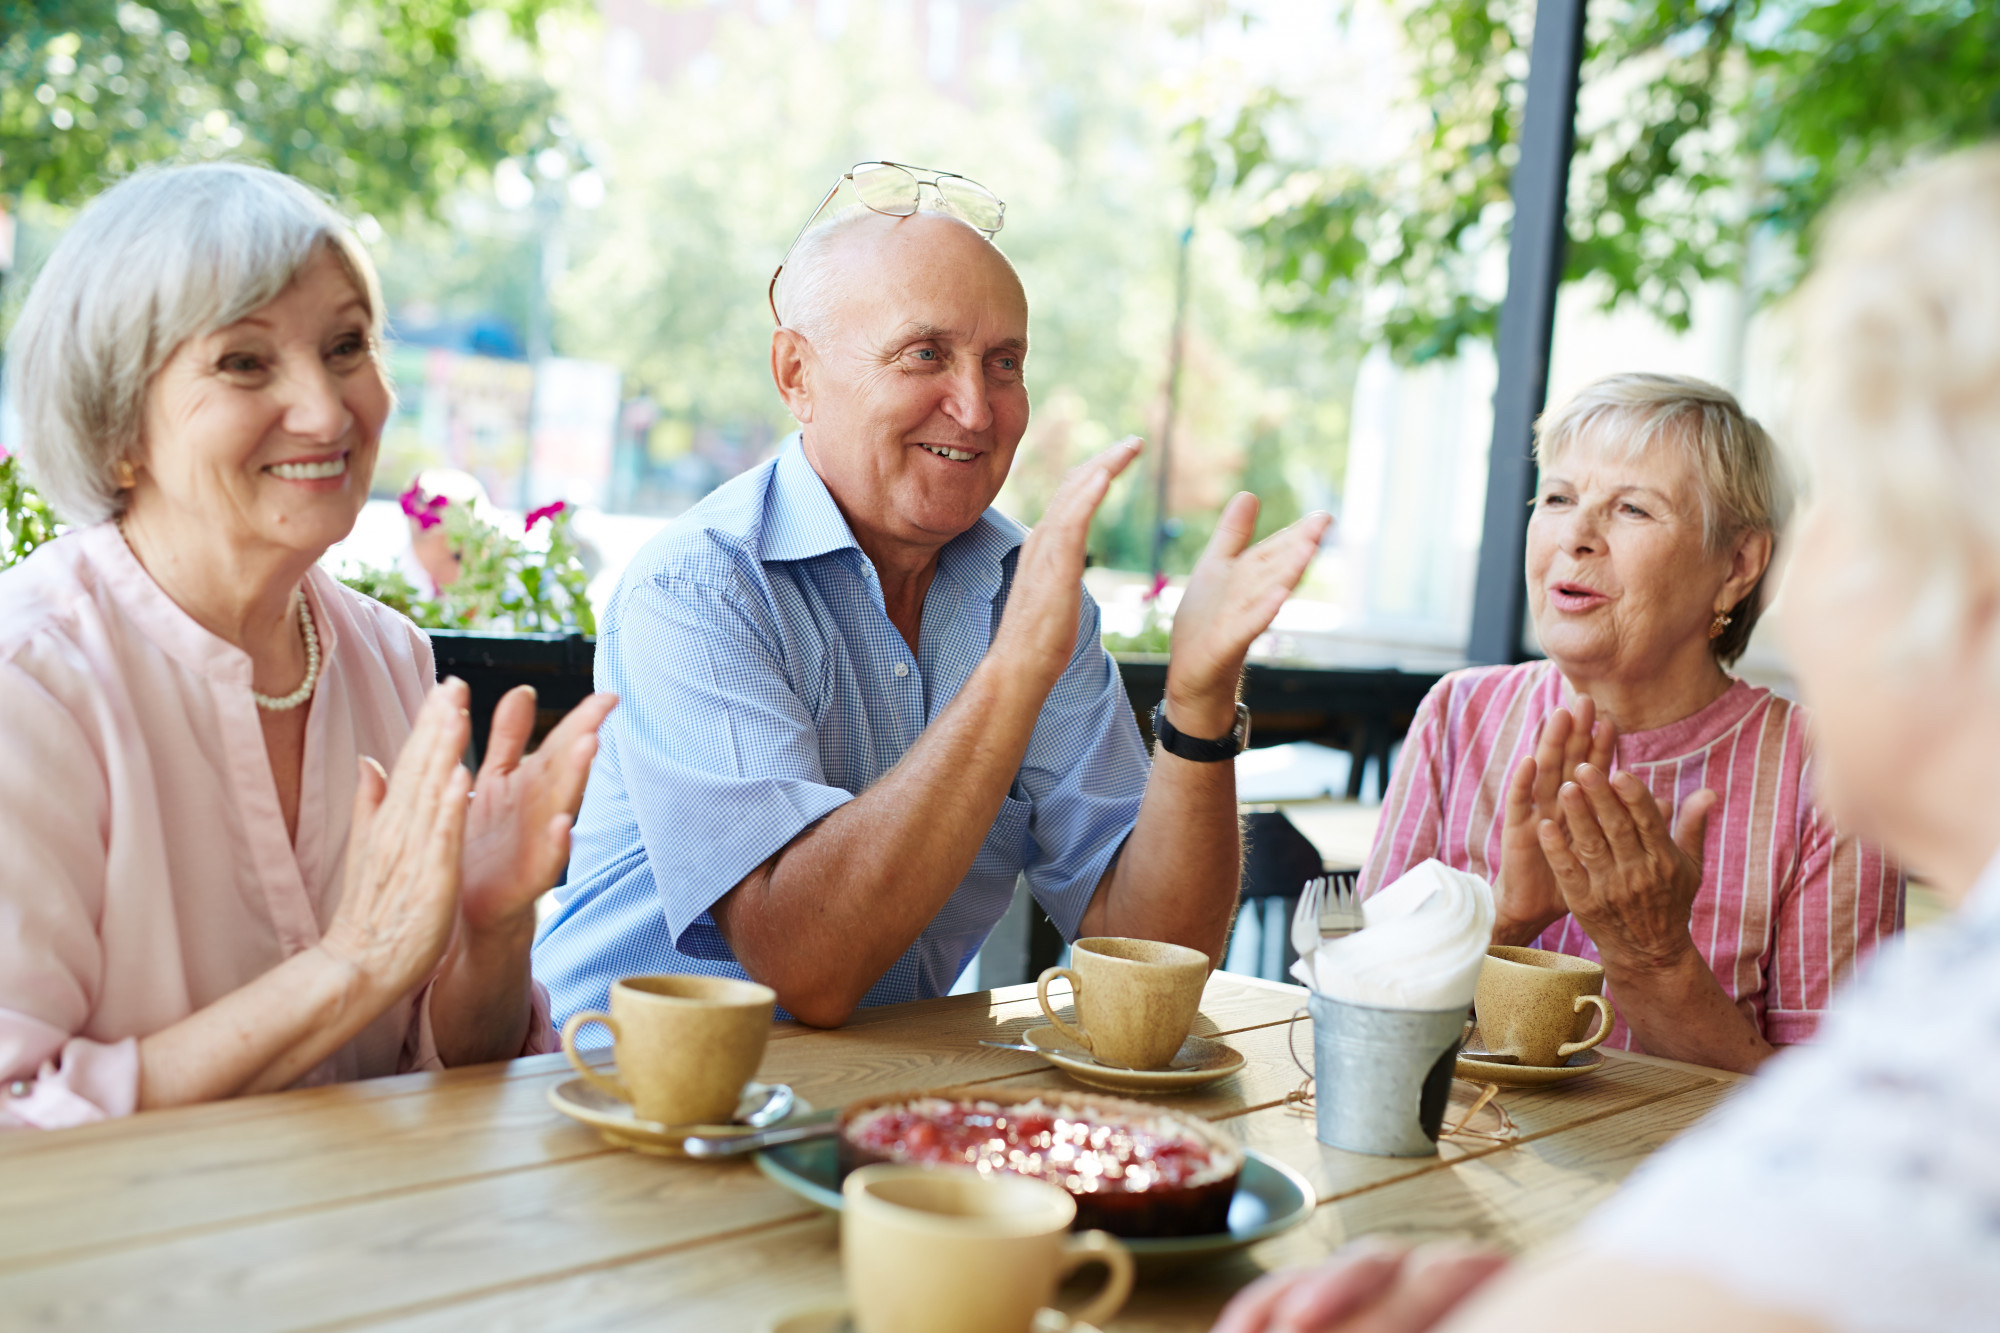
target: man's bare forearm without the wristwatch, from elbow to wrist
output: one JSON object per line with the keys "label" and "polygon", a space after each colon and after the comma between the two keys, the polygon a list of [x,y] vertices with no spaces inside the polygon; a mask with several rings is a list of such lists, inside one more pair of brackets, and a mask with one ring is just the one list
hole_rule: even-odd
{"label": "man's bare forearm without the wristwatch, from elbow to wrist", "polygon": [[804,1023],[832,1027],[972,869],[1048,687],[988,656],[874,787],[794,839],[720,903],[744,969]]}

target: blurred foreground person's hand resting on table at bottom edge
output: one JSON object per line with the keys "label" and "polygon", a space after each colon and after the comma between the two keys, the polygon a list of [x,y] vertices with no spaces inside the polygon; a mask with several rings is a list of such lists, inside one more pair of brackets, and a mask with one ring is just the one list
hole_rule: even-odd
{"label": "blurred foreground person's hand resting on table at bottom edge", "polygon": [[1316,1269],[1244,1287],[1214,1333],[1424,1333],[1502,1267],[1504,1255],[1462,1241],[1356,1241]]}

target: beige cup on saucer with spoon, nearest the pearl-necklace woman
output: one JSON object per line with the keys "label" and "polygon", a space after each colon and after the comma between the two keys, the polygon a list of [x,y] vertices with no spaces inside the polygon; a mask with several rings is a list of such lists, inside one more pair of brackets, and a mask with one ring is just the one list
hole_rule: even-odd
{"label": "beige cup on saucer with spoon, nearest the pearl-necklace woman", "polygon": [[[594,1087],[658,1125],[728,1125],[744,1083],[764,1059],[778,993],[728,977],[626,977],[612,1011],[586,1009],[562,1025],[562,1053]],[[576,1031],[612,1031],[618,1073],[576,1053]]]}

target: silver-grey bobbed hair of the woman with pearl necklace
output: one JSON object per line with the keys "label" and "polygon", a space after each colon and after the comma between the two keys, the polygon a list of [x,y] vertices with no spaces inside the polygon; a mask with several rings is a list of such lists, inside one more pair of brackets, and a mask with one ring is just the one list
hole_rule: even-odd
{"label": "silver-grey bobbed hair of the woman with pearl necklace", "polygon": [[188,338],[270,304],[320,248],[348,270],[380,344],[382,286],[334,206],[240,162],[134,172],[84,208],[8,338],[28,480],[70,522],[124,508],[146,392]]}

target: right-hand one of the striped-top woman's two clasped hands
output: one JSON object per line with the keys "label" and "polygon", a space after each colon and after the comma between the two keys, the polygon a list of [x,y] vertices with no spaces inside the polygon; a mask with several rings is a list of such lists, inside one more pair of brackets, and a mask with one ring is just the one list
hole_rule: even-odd
{"label": "right-hand one of the striped-top woman's two clasped hands", "polygon": [[1606,779],[1602,769],[1582,765],[1556,803],[1560,821],[1538,827],[1542,855],[1606,971],[1684,963],[1694,951],[1688,921],[1702,889],[1702,845],[1716,793],[1688,797],[1674,833],[1630,773]]}

